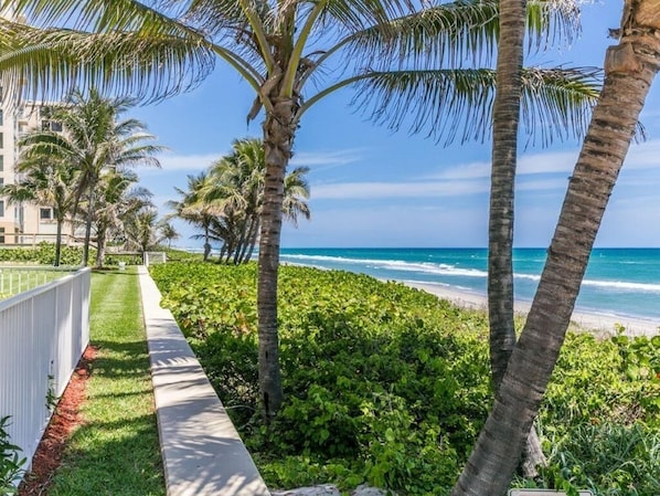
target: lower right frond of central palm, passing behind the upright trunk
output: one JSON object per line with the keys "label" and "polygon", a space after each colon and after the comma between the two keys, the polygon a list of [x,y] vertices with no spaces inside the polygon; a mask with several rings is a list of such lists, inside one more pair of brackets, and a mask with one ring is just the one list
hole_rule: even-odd
{"label": "lower right frond of central palm, passing behind the upright trunk", "polygon": [[[530,139],[547,145],[553,137],[582,136],[598,75],[594,68],[525,68],[522,120]],[[490,137],[493,70],[372,72],[358,86],[353,105],[390,129],[407,127],[444,145]]]}

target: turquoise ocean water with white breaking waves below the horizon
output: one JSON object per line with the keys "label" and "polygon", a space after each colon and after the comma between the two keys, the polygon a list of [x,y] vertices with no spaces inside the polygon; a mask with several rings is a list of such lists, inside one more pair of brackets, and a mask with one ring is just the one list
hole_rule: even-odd
{"label": "turquoise ocean water with white breaking waves below the horizon", "polygon": [[[283,249],[281,261],[486,295],[486,249]],[[532,300],[545,250],[517,249],[515,298]],[[660,249],[596,249],[577,310],[660,320]]]}

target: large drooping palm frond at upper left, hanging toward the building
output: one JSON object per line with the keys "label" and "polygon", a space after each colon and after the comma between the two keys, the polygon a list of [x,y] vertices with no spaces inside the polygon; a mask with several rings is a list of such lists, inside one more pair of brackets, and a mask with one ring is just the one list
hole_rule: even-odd
{"label": "large drooping palm frond at upper left, hanging toward the building", "polygon": [[[32,99],[62,99],[74,87],[155,102],[195,87],[214,68],[202,40],[140,32],[40,30],[0,22],[0,72]],[[11,40],[11,41],[8,41]]]}

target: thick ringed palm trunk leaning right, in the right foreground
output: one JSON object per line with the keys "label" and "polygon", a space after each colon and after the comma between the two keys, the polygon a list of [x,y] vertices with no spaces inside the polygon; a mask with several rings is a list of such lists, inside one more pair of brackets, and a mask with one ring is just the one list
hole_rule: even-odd
{"label": "thick ringed palm trunk leaning right, in the right foreground", "polygon": [[660,0],[629,4],[547,261],[493,410],[453,495],[505,494],[564,342],[603,213],[660,67]]}

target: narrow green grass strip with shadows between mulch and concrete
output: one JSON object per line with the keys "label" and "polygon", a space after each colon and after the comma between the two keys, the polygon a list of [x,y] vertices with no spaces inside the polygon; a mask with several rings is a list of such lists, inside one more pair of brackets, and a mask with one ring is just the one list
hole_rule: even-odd
{"label": "narrow green grass strip with shadows between mulch and concrete", "polygon": [[91,341],[98,347],[87,382],[85,423],[73,434],[50,496],[164,495],[138,275],[92,275]]}

